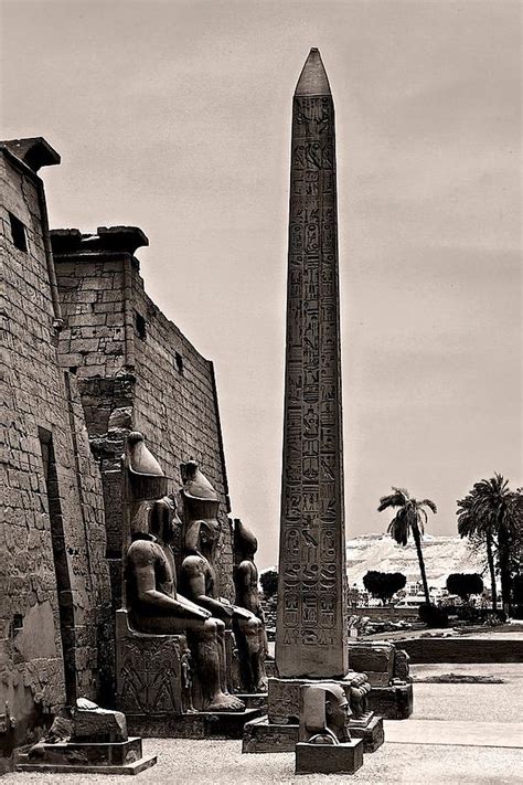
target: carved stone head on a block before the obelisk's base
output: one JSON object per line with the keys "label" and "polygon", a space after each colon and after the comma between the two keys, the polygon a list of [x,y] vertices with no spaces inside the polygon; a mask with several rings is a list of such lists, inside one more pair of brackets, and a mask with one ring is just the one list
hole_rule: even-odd
{"label": "carved stone head on a block before the obelisk's base", "polygon": [[340,744],[349,741],[351,714],[345,690],[333,681],[301,688],[300,735],[305,741]]}

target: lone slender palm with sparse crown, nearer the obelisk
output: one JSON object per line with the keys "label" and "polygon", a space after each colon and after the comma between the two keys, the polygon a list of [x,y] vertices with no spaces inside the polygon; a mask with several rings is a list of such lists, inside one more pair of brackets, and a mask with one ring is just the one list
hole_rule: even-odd
{"label": "lone slender palm with sparse crown, nearer the obelisk", "polygon": [[425,523],[428,520],[425,508],[428,507],[434,513],[438,510],[434,501],[430,499],[417,501],[417,499],[413,499],[409,496],[405,488],[393,488],[393,491],[394,492],[389,496],[383,496],[380,499],[377,511],[382,512],[382,510],[386,510],[388,507],[399,508],[388,524],[387,532],[399,545],[406,545],[409,534],[413,535],[418,554],[425,601],[427,605],[430,605],[430,595],[428,593],[427,575],[425,574],[425,562],[421,552],[421,537],[424,534]]}

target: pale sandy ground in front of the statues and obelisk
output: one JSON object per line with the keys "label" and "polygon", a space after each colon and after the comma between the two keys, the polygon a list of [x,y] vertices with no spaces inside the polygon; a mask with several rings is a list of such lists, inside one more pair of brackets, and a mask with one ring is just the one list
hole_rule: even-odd
{"label": "pale sandy ground in front of the statues and obelisk", "polygon": [[[502,685],[415,685],[415,720],[495,721],[515,723],[523,718],[523,667],[519,665],[413,666],[415,675],[466,672],[493,675]],[[405,728],[408,720],[404,721]],[[402,725],[404,725],[402,722]],[[431,723],[434,726],[434,723]],[[509,730],[509,729],[508,729]],[[350,779],[353,783],[382,785],[502,785],[522,783],[522,749],[455,746],[434,743],[385,744],[366,754],[363,767]],[[437,741],[437,740],[436,740]],[[522,738],[523,747],[523,738]],[[158,764],[127,782],[148,785],[173,783],[214,785],[215,783],[270,784],[323,783],[322,775],[293,775],[293,754],[242,755],[239,741],[186,741],[148,739],[146,754],[157,754]],[[126,782],[121,776],[71,774],[8,774],[2,784],[25,785],[110,785]],[[331,779],[332,782],[332,779]]]}

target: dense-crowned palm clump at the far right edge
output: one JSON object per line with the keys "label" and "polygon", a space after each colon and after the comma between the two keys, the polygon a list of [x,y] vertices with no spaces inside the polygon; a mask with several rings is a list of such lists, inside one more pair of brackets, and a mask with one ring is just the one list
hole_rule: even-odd
{"label": "dense-crowned palm clump at the far right edge", "polygon": [[[465,499],[458,500],[458,532],[484,541],[492,585],[492,606],[498,607],[494,550],[501,579],[503,607],[510,612],[512,535],[521,526],[521,494],[511,491],[509,480],[494,474],[476,482]],[[520,521],[520,522],[517,522]]]}

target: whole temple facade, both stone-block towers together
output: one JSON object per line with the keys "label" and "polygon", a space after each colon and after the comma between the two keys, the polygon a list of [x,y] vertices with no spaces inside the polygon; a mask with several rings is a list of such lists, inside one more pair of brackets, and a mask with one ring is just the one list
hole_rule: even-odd
{"label": "whole temple facade, both stone-block towers together", "polygon": [[58,162],[41,138],[0,144],[0,774],[77,697],[114,704],[131,428],[170,490],[194,458],[218,491],[233,594],[213,364],[146,295],[139,229],[50,233],[36,172]]}

